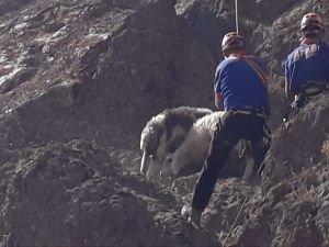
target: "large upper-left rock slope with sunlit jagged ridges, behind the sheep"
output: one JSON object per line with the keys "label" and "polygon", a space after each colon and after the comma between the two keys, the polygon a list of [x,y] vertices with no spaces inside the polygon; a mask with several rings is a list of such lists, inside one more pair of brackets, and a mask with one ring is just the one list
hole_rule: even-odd
{"label": "large upper-left rock slope with sunlit jagged ridges, behind the sheep", "polygon": [[2,26],[0,108],[20,125],[13,145],[83,136],[123,147],[149,112],[209,104],[215,64],[174,1],[34,4]]}

